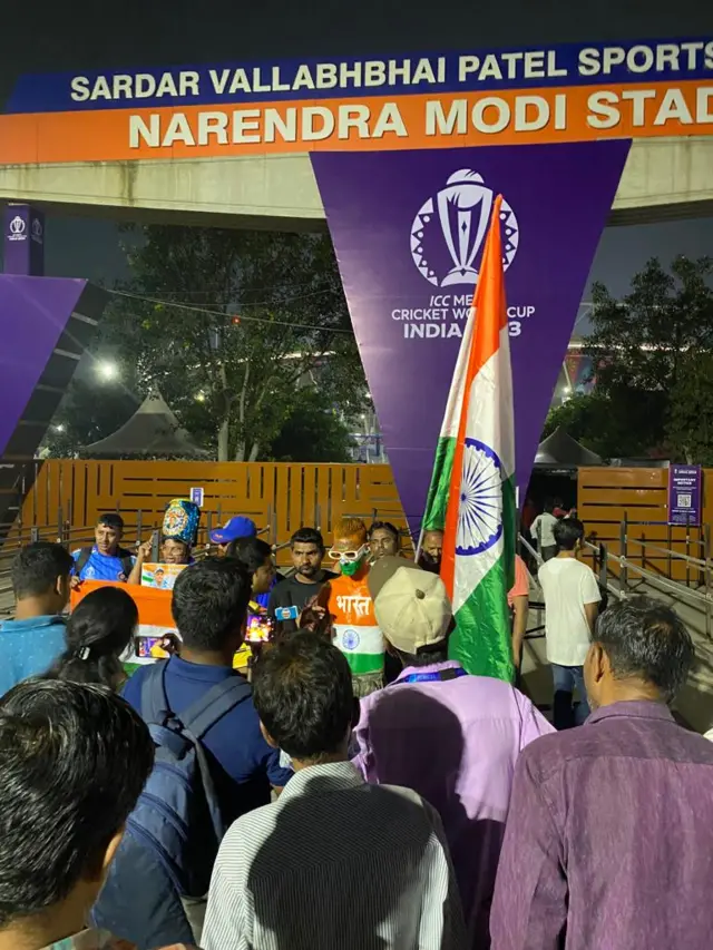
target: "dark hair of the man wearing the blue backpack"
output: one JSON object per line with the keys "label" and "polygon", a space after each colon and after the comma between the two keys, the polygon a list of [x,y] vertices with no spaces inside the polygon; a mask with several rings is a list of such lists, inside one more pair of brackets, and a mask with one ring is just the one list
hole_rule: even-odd
{"label": "dark hair of the man wearing the blue backpack", "polygon": [[235,558],[204,558],[180,571],[170,603],[187,647],[224,649],[245,623],[252,576]]}

